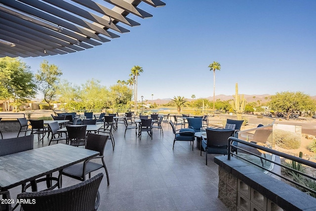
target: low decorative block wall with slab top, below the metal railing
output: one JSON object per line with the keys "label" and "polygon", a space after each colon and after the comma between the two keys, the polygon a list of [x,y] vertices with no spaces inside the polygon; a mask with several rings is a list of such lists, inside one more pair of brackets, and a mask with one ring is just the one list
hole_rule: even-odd
{"label": "low decorative block wall with slab top, below the metal railing", "polygon": [[218,198],[231,211],[315,211],[316,199],[236,158],[215,157]]}

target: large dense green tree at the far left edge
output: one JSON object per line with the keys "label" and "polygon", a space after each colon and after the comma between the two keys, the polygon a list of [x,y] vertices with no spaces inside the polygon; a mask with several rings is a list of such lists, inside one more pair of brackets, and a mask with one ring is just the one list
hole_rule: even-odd
{"label": "large dense green tree at the far left edge", "polygon": [[17,58],[0,58],[0,84],[0,99],[4,100],[6,111],[9,111],[10,99],[17,107],[36,94],[36,83],[30,67]]}

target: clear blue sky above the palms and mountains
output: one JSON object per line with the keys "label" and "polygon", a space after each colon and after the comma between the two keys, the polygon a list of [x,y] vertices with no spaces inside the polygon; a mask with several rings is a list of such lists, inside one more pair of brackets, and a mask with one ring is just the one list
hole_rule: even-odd
{"label": "clear blue sky above the palms and mountains", "polygon": [[45,59],[63,72],[62,79],[84,84],[97,79],[109,87],[127,80],[134,65],[143,67],[138,99],[197,98],[215,94],[275,94],[303,91],[316,95],[315,0],[163,0],[139,27],[81,52],[22,58],[37,72]]}

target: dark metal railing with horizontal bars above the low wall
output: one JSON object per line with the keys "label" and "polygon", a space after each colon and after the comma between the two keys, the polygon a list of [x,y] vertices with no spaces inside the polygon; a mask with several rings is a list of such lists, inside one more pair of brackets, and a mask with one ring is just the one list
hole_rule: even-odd
{"label": "dark metal railing with horizontal bars above the low wall", "polygon": [[293,169],[293,168],[290,168],[288,166],[285,166],[281,163],[277,163],[275,162],[274,160],[272,159],[269,159],[269,158],[266,158],[265,156],[260,156],[258,154],[255,154],[249,150],[246,150],[246,148],[243,148],[242,146],[238,146],[238,143],[241,143],[241,144],[244,144],[248,147],[252,147],[254,149],[258,149],[262,152],[262,154],[265,154],[266,153],[270,153],[272,155],[276,155],[276,156],[279,156],[279,157],[282,157],[282,158],[285,158],[285,159],[288,159],[290,161],[293,161],[293,162],[296,162],[298,164],[302,164],[302,165],[305,165],[305,166],[308,166],[308,167],[311,167],[311,168],[314,168],[316,169],[316,163],[314,162],[311,162],[311,161],[308,161],[308,160],[305,160],[305,159],[302,159],[302,158],[299,158],[299,157],[295,157],[295,156],[292,156],[292,155],[289,155],[289,154],[286,154],[286,153],[282,153],[282,152],[279,152],[279,151],[276,151],[276,150],[273,150],[273,149],[270,149],[270,148],[267,148],[267,147],[264,147],[264,146],[260,146],[258,144],[255,144],[255,143],[251,143],[251,142],[247,142],[247,141],[243,141],[243,140],[240,140],[238,138],[235,138],[235,137],[230,137],[229,139],[229,142],[228,142],[228,160],[231,160],[231,157],[232,156],[235,156],[239,159],[242,159],[246,162],[249,162],[250,164],[252,165],[255,165],[256,167],[260,168],[260,169],[264,169],[282,179],[285,179],[305,190],[307,190],[308,192],[310,193],[313,193],[316,195],[316,190],[314,189],[311,189],[310,187],[307,187],[303,184],[300,184],[299,182],[295,181],[294,179],[291,179],[291,178],[288,178],[288,177],[285,177],[283,175],[281,175],[280,173],[277,173],[277,172],[274,172],[273,170],[271,169],[267,169],[265,168],[263,165],[259,165],[253,161],[251,161],[250,159],[247,159],[247,157],[243,157],[243,156],[240,156],[238,155],[236,152],[237,151],[241,151],[242,153],[246,153],[246,154],[249,154],[249,155],[252,155],[252,156],[255,156],[255,157],[258,157],[260,160],[265,160],[265,162],[271,162],[273,163],[274,165],[277,165],[281,168],[284,168],[284,169],[287,169],[287,170],[290,170],[292,171],[293,173],[297,174],[297,175],[301,175],[301,176],[304,176],[305,178],[309,178],[309,179],[312,179],[314,182],[316,182],[316,177],[314,176],[311,176],[311,175],[308,175],[306,174],[305,172],[302,172],[302,171],[299,171],[297,169]]}

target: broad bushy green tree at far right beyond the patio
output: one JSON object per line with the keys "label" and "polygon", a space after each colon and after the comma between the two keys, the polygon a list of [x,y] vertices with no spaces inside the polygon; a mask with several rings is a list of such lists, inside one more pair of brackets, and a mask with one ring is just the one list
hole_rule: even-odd
{"label": "broad bushy green tree at far right beyond the patio", "polygon": [[276,92],[276,95],[271,96],[269,105],[272,110],[282,112],[287,120],[294,111],[315,110],[316,107],[310,95],[301,91]]}

